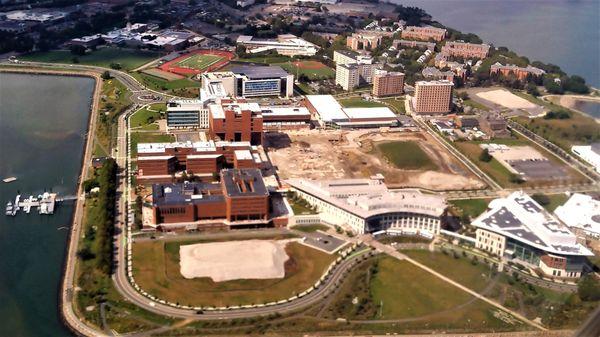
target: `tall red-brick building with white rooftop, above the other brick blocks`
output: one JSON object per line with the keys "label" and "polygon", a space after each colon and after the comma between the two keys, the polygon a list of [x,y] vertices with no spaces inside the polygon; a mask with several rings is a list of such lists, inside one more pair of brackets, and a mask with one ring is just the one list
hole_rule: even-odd
{"label": "tall red-brick building with white rooftop, above the other brick blocks", "polygon": [[231,142],[262,144],[263,119],[260,106],[244,99],[220,99],[208,105],[209,133],[213,138]]}

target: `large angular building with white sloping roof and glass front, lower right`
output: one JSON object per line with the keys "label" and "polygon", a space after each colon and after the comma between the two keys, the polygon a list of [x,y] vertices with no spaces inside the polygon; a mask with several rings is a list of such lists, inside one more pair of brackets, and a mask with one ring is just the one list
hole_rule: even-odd
{"label": "large angular building with white sloping roof and glass front, lower right", "polygon": [[558,219],[523,192],[495,199],[473,220],[475,247],[539,270],[548,277],[579,278],[594,254]]}

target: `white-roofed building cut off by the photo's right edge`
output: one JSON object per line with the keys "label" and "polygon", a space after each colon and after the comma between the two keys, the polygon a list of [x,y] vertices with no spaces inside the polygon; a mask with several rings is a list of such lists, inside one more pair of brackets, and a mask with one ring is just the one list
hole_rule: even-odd
{"label": "white-roofed building cut off by the photo's right edge", "polygon": [[574,232],[582,231],[585,236],[600,240],[600,200],[575,193],[554,210],[554,215]]}

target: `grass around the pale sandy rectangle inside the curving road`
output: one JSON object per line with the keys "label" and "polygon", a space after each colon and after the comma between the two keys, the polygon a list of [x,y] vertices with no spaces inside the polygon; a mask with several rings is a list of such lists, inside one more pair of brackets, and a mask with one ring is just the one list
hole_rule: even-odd
{"label": "grass around the pale sandy rectangle inside the curving road", "polygon": [[[179,246],[188,242],[140,242],[133,245],[136,282],[159,298],[189,305],[225,306],[277,301],[312,286],[335,259],[316,249],[292,242],[283,279],[213,282],[210,278],[185,279],[179,272]],[[157,263],[160,261],[160,263]]]}

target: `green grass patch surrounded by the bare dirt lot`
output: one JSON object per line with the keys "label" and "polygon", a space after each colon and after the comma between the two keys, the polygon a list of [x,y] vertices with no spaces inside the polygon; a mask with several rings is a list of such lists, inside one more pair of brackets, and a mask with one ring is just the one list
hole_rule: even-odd
{"label": "green grass patch surrounded by the bare dirt lot", "polygon": [[399,169],[435,170],[437,168],[427,153],[415,142],[381,142],[375,147],[392,165]]}

